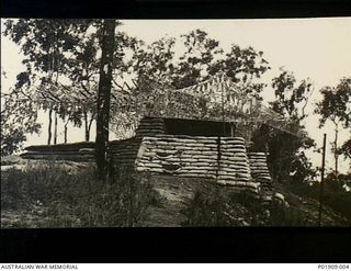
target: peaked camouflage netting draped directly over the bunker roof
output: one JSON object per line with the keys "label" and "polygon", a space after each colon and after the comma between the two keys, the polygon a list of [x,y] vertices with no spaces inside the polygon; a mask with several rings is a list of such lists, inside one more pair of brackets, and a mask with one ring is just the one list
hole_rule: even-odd
{"label": "peaked camouflage netting draped directly over the bunker roof", "polygon": [[143,79],[138,90],[135,106],[145,116],[245,123],[251,129],[267,124],[301,136],[295,125],[237,87],[224,74],[183,89]]}

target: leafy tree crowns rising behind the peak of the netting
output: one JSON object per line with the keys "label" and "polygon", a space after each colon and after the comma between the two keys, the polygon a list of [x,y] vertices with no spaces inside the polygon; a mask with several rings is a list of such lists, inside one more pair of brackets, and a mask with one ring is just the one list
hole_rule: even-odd
{"label": "leafy tree crowns rising behind the peak of the netting", "polygon": [[[180,56],[174,52],[176,46],[178,52],[183,52]],[[262,52],[231,45],[225,53],[219,42],[202,30],[183,34],[180,39],[163,37],[149,46],[135,41],[133,50],[132,66],[137,75],[174,89],[194,86],[217,72],[226,72],[234,82],[245,84],[248,92],[260,92],[263,84],[254,82],[254,79],[270,69]]]}

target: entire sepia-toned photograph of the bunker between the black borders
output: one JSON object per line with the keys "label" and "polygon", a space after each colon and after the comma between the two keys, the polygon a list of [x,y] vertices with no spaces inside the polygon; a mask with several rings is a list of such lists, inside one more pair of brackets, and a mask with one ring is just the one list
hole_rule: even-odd
{"label": "entire sepia-toned photograph of the bunker between the black borders", "polygon": [[350,226],[351,18],[1,19],[1,228]]}

